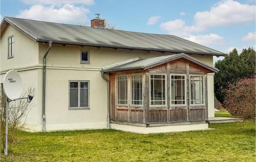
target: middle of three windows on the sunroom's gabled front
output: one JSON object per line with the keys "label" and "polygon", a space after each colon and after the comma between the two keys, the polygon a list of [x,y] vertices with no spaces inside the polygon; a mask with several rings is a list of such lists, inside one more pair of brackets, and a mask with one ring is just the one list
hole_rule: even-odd
{"label": "middle of three windows on the sunroom's gabled front", "polygon": [[186,75],[170,75],[170,105],[186,105]]}

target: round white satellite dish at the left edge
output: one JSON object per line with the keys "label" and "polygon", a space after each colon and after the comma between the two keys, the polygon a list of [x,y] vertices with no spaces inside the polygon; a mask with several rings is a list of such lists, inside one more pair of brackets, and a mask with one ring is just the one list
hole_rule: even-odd
{"label": "round white satellite dish at the left edge", "polygon": [[22,95],[22,78],[17,71],[10,70],[4,77],[4,91],[10,100],[14,100]]}

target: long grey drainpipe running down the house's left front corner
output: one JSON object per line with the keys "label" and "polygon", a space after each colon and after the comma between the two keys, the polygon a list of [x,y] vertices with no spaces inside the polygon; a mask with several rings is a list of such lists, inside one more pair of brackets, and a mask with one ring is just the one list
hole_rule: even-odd
{"label": "long grey drainpipe running down the house's left front corner", "polygon": [[52,48],[52,41],[44,55],[44,65],[42,67],[42,131],[46,131],[46,57]]}

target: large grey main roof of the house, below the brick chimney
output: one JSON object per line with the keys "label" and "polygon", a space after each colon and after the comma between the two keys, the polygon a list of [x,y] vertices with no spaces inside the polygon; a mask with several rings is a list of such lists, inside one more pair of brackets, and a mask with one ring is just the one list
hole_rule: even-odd
{"label": "large grey main roof of the house, below the brick chimney", "polygon": [[4,21],[22,30],[37,42],[77,44],[97,47],[168,51],[225,56],[226,54],[203,45],[163,34],[149,34],[120,30],[97,29],[88,26],[62,24],[5,17]]}

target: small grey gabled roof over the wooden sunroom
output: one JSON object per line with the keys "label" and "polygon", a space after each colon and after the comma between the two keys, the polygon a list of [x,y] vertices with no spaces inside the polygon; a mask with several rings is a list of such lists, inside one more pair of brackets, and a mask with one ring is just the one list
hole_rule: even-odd
{"label": "small grey gabled roof over the wooden sunroom", "polygon": [[122,71],[122,70],[134,70],[134,69],[150,69],[152,67],[173,61],[173,60],[177,60],[180,58],[184,58],[187,59],[191,62],[194,62],[200,66],[203,66],[204,68],[207,68],[213,72],[218,72],[218,69],[212,66],[209,66],[203,62],[201,62],[198,59],[195,59],[193,57],[190,57],[188,55],[186,55],[185,53],[179,53],[179,54],[175,54],[175,55],[167,55],[167,56],[160,56],[160,57],[155,57],[155,58],[148,58],[148,59],[138,59],[138,58],[134,58],[134,59],[130,59],[130,60],[126,60],[121,62],[120,64],[113,64],[113,65],[109,65],[109,66],[105,66],[102,67],[102,70],[104,72],[113,72],[113,71]]}

